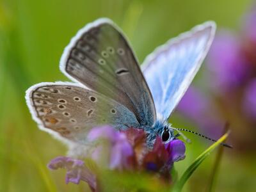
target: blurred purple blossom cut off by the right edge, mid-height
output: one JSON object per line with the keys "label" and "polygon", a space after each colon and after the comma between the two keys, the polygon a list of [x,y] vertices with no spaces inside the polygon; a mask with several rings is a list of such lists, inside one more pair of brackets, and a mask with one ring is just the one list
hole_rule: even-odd
{"label": "blurred purple blossom cut off by the right edge, mid-height", "polygon": [[247,84],[244,91],[243,108],[248,117],[256,118],[256,78]]}

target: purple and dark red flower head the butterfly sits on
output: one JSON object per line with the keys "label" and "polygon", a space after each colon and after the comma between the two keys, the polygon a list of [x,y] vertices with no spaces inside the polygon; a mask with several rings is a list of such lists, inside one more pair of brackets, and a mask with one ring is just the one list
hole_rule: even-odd
{"label": "purple and dark red flower head the butterfly sits on", "polygon": [[[170,179],[170,169],[173,163],[185,157],[185,145],[182,141],[173,140],[164,144],[161,138],[157,138],[152,150],[148,150],[145,132],[134,128],[116,131],[108,125],[95,127],[89,132],[88,140],[91,142],[99,141],[94,149],[97,150],[98,154],[103,153],[104,147],[109,148],[108,169],[119,172],[130,170],[153,172],[160,174],[164,179]],[[101,167],[100,164],[99,166]],[[97,175],[93,174],[81,160],[57,157],[52,159],[48,167],[52,170],[65,168],[67,170],[67,183],[78,184],[80,180],[83,180],[93,190],[97,189]]]}

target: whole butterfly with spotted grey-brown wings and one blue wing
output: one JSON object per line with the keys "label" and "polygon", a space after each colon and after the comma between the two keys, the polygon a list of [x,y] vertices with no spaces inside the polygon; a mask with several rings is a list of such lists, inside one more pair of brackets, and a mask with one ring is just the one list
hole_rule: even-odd
{"label": "whole butterfly with spotted grey-brown wings and one blue wing", "polygon": [[198,25],[152,52],[142,64],[121,29],[98,19],[67,45],[60,70],[74,83],[39,83],[26,102],[40,129],[71,143],[86,144],[99,125],[147,132],[148,147],[177,135],[168,118],[188,89],[212,44],[216,25]]}

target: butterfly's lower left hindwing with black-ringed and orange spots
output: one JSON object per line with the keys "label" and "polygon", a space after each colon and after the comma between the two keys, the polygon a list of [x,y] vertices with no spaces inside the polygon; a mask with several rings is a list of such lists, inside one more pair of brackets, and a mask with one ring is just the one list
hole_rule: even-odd
{"label": "butterfly's lower left hindwing with black-ringed and orange spots", "polygon": [[27,101],[38,124],[79,143],[86,142],[87,132],[99,125],[139,126],[125,106],[75,83],[37,84],[29,89]]}

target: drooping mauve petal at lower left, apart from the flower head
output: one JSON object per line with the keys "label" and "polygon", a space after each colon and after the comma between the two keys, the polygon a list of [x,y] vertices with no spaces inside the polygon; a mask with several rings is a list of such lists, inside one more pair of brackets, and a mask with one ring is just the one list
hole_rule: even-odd
{"label": "drooping mauve petal at lower left, apart from the flower head", "polygon": [[66,183],[74,182],[79,184],[80,180],[87,182],[92,191],[97,191],[95,175],[84,165],[84,162],[70,157],[56,157],[48,164],[51,170],[65,168],[67,170]]}

